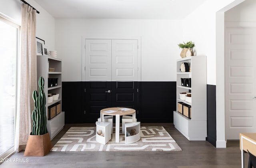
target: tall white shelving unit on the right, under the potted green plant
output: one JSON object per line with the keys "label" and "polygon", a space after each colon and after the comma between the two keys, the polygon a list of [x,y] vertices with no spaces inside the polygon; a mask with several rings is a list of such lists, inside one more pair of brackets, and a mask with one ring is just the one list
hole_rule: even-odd
{"label": "tall white shelving unit on the right, under the potted green plant", "polygon": [[[180,65],[187,62],[190,72],[181,72]],[[178,111],[173,112],[174,126],[188,140],[206,140],[207,137],[207,92],[206,56],[191,56],[177,60],[176,109],[178,102],[191,106],[191,119]],[[181,85],[180,78],[191,78],[191,87]],[[179,93],[191,91],[191,103],[180,99]]]}

